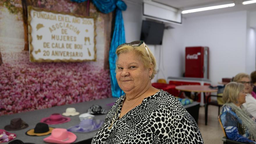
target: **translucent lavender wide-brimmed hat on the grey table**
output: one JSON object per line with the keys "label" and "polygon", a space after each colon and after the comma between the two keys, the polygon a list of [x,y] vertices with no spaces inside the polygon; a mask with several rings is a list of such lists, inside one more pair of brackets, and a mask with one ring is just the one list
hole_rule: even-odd
{"label": "translucent lavender wide-brimmed hat on the grey table", "polygon": [[99,129],[103,124],[102,120],[95,120],[95,119],[85,119],[80,122],[79,125],[70,127],[67,131],[71,132],[90,132]]}

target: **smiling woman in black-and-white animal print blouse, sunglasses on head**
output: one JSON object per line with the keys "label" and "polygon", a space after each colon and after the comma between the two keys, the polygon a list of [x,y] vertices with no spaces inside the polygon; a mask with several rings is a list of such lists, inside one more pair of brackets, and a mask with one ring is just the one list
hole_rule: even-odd
{"label": "smiling woman in black-and-white animal print blouse, sunglasses on head", "polygon": [[116,79],[125,95],[115,102],[92,144],[203,143],[179,100],[151,86],[156,61],[145,43],[122,44],[116,54]]}

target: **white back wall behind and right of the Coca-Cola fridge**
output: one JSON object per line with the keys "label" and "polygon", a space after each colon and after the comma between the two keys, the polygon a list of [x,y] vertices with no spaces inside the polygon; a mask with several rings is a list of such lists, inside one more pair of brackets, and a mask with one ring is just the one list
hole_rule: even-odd
{"label": "white back wall behind and right of the Coca-Cola fridge", "polygon": [[209,47],[209,79],[246,72],[246,11],[186,19],[185,46]]}

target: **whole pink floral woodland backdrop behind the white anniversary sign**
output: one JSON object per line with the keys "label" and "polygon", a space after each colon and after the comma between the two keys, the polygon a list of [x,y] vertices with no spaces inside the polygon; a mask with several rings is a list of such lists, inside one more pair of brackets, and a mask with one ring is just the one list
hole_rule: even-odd
{"label": "whole pink floral woodland backdrop behind the white anniversary sign", "polygon": [[[31,4],[68,13],[83,14],[81,9],[86,10],[69,0]],[[0,1],[0,115],[111,97],[109,70],[104,67],[112,17],[99,13],[92,3],[90,15],[97,17],[96,62],[31,63],[29,52],[23,50],[21,0]]]}

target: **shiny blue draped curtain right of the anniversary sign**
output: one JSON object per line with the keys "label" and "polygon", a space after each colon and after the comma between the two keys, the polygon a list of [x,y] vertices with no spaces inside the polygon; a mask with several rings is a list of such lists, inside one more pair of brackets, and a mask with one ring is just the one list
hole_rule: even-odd
{"label": "shiny blue draped curtain right of the anniversary sign", "polygon": [[[87,0],[71,0],[77,3],[81,3]],[[125,2],[121,0],[92,0],[95,7],[102,13],[110,13],[116,9],[115,12],[115,28],[111,40],[109,50],[109,67],[110,67],[110,80],[111,80],[111,92],[113,97],[120,97],[124,92],[118,86],[115,78],[115,61],[116,54],[115,49],[118,45],[125,43],[125,28],[122,17],[122,10],[126,10],[127,6]]]}

